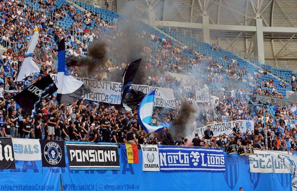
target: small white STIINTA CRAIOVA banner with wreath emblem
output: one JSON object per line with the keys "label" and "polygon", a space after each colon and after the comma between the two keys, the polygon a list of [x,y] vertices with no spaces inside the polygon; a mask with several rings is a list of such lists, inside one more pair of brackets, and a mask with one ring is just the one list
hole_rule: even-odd
{"label": "small white STIINTA CRAIOVA banner with wreath emblem", "polygon": [[157,145],[141,145],[142,170],[160,171],[159,149]]}

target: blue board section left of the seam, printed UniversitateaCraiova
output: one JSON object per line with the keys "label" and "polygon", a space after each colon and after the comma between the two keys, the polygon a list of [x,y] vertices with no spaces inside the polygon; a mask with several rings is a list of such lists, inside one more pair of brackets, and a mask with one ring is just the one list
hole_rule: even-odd
{"label": "blue board section left of the seam, printed UniversitateaCraiova", "polygon": [[15,169],[0,170],[0,190],[60,191],[60,171],[42,167],[41,161],[15,161]]}

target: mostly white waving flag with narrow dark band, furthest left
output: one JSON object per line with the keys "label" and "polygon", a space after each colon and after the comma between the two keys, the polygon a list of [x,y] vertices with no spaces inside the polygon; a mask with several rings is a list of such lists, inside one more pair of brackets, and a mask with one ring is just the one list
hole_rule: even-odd
{"label": "mostly white waving flag with narrow dark band, furthest left", "polygon": [[22,81],[24,78],[26,78],[27,76],[30,76],[33,73],[40,73],[39,67],[32,59],[33,51],[37,45],[38,37],[39,37],[39,33],[35,31],[30,40],[30,44],[29,44],[27,53],[25,54],[23,65],[17,77],[18,82]]}

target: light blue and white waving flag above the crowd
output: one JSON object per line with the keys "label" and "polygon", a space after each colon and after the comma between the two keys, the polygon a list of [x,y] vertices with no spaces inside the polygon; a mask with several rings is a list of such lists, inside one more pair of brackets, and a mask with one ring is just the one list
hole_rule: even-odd
{"label": "light blue and white waving flag above the crowd", "polygon": [[154,100],[155,100],[155,91],[153,90],[151,93],[147,94],[141,101],[138,108],[138,121],[142,126],[142,129],[145,132],[159,132],[164,127],[168,127],[168,123],[162,123],[161,125],[151,125],[153,108],[154,108]]}

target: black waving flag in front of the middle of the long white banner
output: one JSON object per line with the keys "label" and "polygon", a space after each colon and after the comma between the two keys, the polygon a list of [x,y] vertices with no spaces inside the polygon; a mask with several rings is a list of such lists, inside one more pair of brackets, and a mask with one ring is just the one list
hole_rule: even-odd
{"label": "black waving flag in front of the middle of the long white banner", "polygon": [[124,107],[127,111],[134,109],[145,96],[144,93],[140,91],[135,91],[130,89],[132,85],[132,81],[136,75],[137,69],[140,65],[141,59],[137,59],[126,67],[123,74],[123,82],[122,82],[122,100],[121,106]]}

